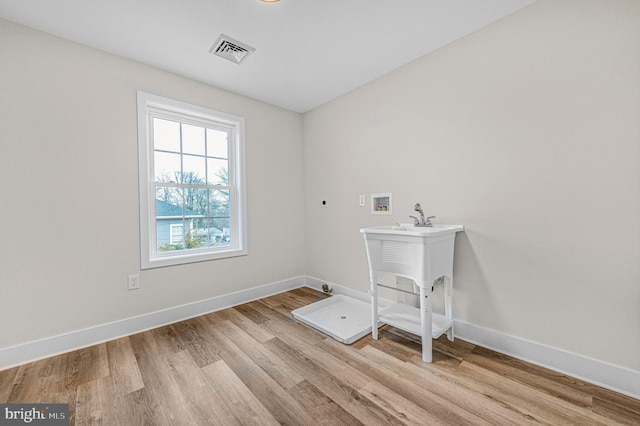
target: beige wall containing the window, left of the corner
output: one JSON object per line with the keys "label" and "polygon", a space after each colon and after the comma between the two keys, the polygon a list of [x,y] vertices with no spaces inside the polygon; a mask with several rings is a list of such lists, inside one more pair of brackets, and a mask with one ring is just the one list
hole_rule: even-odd
{"label": "beige wall containing the window, left of the corner", "polygon": [[[246,118],[249,255],[127,291],[137,90]],[[0,348],[304,273],[299,114],[0,21],[0,138]]]}

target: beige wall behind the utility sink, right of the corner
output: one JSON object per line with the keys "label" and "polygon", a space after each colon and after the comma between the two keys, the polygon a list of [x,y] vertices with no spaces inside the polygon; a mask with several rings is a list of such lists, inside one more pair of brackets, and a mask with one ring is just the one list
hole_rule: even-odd
{"label": "beige wall behind the utility sink, right of the corner", "polygon": [[[359,228],[421,202],[466,227],[458,319],[640,369],[640,2],[542,0],[305,114],[304,141],[307,275],[366,291]],[[358,207],[376,192],[392,216]]]}

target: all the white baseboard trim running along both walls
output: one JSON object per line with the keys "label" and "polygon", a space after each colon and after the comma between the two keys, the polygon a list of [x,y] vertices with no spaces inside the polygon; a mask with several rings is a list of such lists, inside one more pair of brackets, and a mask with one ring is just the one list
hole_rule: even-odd
{"label": "all the white baseboard trim running along both walls", "polygon": [[[236,293],[3,348],[0,349],[0,370],[241,305],[299,287],[306,286],[322,291],[324,283],[332,289],[332,294],[344,294],[366,302],[370,301],[366,292],[311,276],[294,277]],[[385,302],[391,301],[380,299],[381,305]],[[454,328],[455,336],[461,340],[640,399],[640,371],[510,336],[460,320],[455,320]]]}

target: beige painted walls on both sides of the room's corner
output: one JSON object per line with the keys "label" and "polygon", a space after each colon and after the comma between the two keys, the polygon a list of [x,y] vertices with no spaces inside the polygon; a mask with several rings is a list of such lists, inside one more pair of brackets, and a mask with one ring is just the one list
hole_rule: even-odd
{"label": "beige painted walls on both sides of the room's corner", "polygon": [[[301,118],[0,20],[0,348],[304,273],[366,291],[359,228],[419,201],[466,227],[458,319],[639,370],[639,23],[541,0]],[[137,90],[247,119],[250,254],[130,292]]]}

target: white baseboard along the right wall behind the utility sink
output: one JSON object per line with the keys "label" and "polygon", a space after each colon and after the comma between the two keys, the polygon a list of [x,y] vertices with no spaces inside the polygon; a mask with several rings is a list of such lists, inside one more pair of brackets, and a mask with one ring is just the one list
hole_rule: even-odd
{"label": "white baseboard along the right wall behind the utility sink", "polygon": [[[305,277],[305,283],[307,287],[320,291],[322,291],[322,284],[326,283],[333,289],[333,294],[344,294],[365,302],[371,301],[369,294],[365,292],[323,281],[319,278],[307,276]],[[389,302],[382,298],[379,300],[381,306]],[[455,319],[454,330],[455,337],[469,343],[640,399],[640,371],[609,364]]]}

